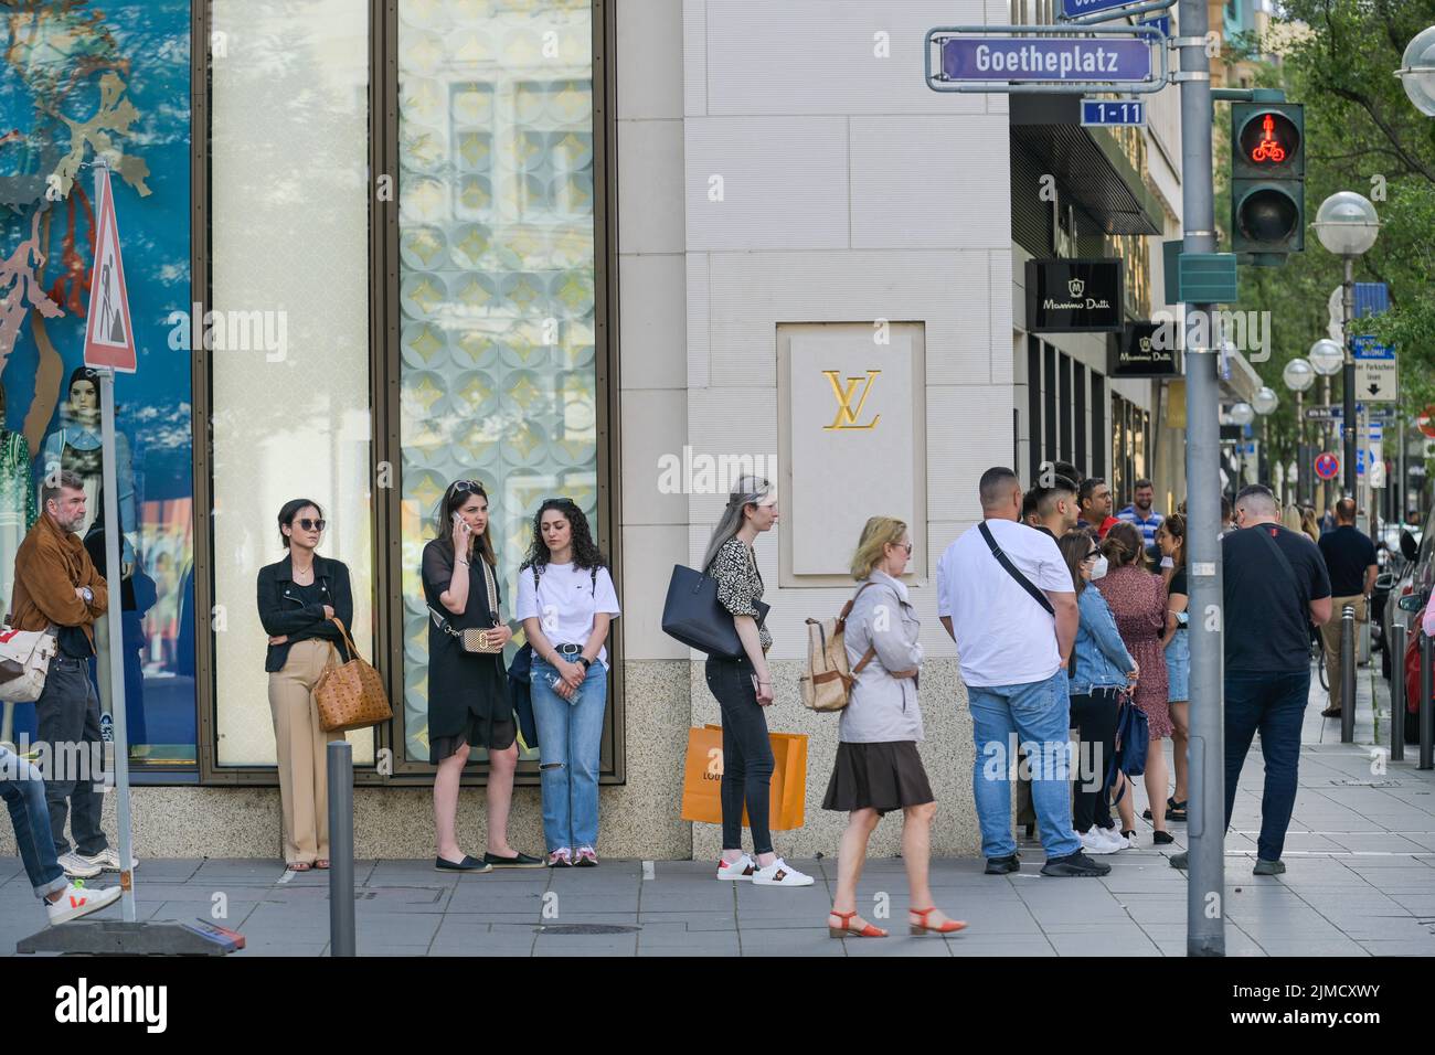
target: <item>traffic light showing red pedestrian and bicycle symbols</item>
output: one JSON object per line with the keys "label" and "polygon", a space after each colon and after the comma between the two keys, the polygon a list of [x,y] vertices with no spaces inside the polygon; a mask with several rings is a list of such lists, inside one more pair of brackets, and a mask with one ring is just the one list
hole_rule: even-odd
{"label": "traffic light showing red pedestrian and bicycle symbols", "polygon": [[1306,112],[1299,102],[1231,106],[1231,250],[1271,267],[1306,247]]}

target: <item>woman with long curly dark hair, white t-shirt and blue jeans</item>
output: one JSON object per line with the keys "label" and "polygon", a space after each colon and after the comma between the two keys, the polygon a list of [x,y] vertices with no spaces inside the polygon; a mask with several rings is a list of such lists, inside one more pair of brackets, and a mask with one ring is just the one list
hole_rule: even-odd
{"label": "woman with long curly dark hair, white t-shirt and blue jeans", "polygon": [[598,755],[608,700],[604,642],[618,597],[587,517],[568,498],[547,500],[534,517],[528,558],[518,568],[517,613],[534,650],[530,692],[548,867],[591,868],[598,863]]}

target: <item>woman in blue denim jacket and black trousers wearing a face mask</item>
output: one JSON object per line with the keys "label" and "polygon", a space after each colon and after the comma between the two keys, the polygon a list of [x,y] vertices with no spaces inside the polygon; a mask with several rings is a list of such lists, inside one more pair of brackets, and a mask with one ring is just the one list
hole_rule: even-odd
{"label": "woman in blue denim jacket and black trousers wearing a face mask", "polygon": [[1066,666],[1071,683],[1071,725],[1079,732],[1081,769],[1072,797],[1072,827],[1088,854],[1114,854],[1131,845],[1111,817],[1106,766],[1116,754],[1116,708],[1122,689],[1137,682],[1131,657],[1111,606],[1092,580],[1106,574],[1106,558],[1095,533],[1068,531],[1056,543],[1076,587],[1076,642]]}

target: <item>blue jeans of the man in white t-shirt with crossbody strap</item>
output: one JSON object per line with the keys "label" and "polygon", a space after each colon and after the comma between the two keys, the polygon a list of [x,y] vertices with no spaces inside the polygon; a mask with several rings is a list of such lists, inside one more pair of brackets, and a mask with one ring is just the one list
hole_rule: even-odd
{"label": "blue jeans of the man in white t-shirt with crossbody strap", "polygon": [[1066,672],[1026,685],[969,685],[971,726],[977,745],[971,766],[971,794],[982,824],[982,853],[1010,857],[1013,746],[1029,756],[1032,805],[1046,857],[1066,857],[1081,850],[1072,831],[1071,804],[1071,698]]}

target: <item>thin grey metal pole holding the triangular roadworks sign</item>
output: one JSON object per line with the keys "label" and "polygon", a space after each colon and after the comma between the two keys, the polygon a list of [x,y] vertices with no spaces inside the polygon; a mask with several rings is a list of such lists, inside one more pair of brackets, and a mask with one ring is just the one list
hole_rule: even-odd
{"label": "thin grey metal pole holding the triangular roadworks sign", "polygon": [[[96,177],[99,184],[99,177]],[[99,197],[95,198],[99,204]],[[100,399],[100,472],[105,488],[105,587],[109,606],[109,699],[115,735],[115,814],[119,825],[121,914],[135,922],[135,873],[131,868],[133,840],[129,817],[129,736],[125,723],[125,632],[121,623],[123,564],[121,564],[119,482],[115,471],[115,372],[99,370]],[[98,774],[96,774],[98,775]]]}

